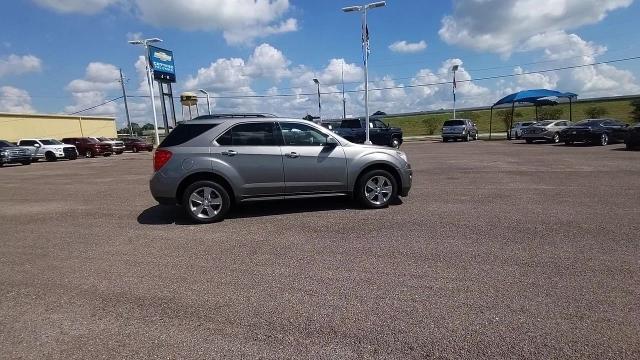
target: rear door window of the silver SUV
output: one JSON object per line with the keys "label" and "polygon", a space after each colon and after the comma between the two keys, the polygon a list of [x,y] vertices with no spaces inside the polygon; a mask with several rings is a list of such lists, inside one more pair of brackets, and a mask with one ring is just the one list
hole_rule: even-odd
{"label": "rear door window of the silver SUV", "polygon": [[225,146],[277,146],[274,134],[274,123],[255,122],[238,124],[227,130],[216,139],[219,145]]}

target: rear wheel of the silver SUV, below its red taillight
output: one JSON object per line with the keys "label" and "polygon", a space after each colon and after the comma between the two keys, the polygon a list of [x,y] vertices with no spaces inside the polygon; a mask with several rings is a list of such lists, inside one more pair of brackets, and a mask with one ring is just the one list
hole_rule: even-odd
{"label": "rear wheel of the silver SUV, below its red taillight", "polygon": [[[192,195],[195,194],[205,200],[207,191],[205,189],[207,188],[212,189],[212,191],[209,193],[207,204],[209,205],[209,208],[212,209],[212,211],[217,211],[213,215],[212,213],[209,213],[209,210],[205,205],[203,205],[203,208],[200,208],[199,213],[196,213],[199,208],[197,206],[198,202],[197,200],[195,200],[195,197],[192,198]],[[214,195],[214,193],[217,194],[215,194],[215,197],[212,198],[211,196]],[[219,204],[216,200],[219,200]],[[214,208],[214,206],[217,207]],[[193,220],[195,223],[209,224],[222,221],[225,218],[227,212],[229,212],[229,209],[231,208],[231,197],[229,197],[227,189],[225,189],[224,186],[221,186],[218,183],[208,180],[196,181],[193,184],[189,185],[184,191],[184,194],[182,194],[182,207],[184,208],[187,215],[189,215],[189,218],[191,218],[191,220]],[[205,215],[204,212],[206,212],[207,214]]]}

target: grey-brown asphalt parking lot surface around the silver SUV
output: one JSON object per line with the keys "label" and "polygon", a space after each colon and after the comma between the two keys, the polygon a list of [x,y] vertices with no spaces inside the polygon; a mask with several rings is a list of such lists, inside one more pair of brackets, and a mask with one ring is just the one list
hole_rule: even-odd
{"label": "grey-brown asphalt parking lot surface around the silver SUV", "polygon": [[150,153],[0,169],[2,358],[640,358],[640,152],[405,144],[403,204],[157,206]]}

